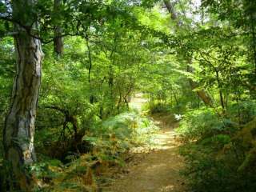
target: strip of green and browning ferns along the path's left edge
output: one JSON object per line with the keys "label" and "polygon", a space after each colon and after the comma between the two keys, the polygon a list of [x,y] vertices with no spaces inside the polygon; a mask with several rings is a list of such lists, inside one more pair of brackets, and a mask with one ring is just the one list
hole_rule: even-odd
{"label": "strip of green and browning ferns along the path's left edge", "polygon": [[70,154],[62,162],[43,159],[32,167],[40,191],[98,191],[98,183],[110,182],[110,175],[125,171],[126,160],[132,158],[130,149],[152,145],[157,132],[154,122],[136,111],[106,119],[82,138],[90,143],[86,154]]}

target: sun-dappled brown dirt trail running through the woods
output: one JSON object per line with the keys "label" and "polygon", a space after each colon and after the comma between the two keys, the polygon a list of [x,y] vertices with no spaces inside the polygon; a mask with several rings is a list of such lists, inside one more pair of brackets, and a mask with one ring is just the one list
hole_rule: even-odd
{"label": "sun-dappled brown dirt trail running through the woods", "polygon": [[[131,106],[139,111],[146,102],[142,94],[136,94]],[[178,154],[179,142],[174,128],[178,126],[170,115],[155,114],[154,122],[161,129],[156,134],[154,146],[134,149],[134,158],[128,171],[114,180],[103,192],[184,192],[185,182],[179,175],[182,157]]]}

